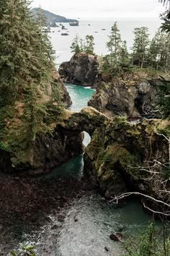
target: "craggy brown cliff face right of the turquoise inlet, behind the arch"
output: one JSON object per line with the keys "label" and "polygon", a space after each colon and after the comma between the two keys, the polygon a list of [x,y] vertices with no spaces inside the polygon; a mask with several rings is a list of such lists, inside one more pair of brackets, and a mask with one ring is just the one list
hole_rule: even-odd
{"label": "craggy brown cliff face right of the turquoise inlet, behind the arch", "polygon": [[125,82],[99,82],[88,106],[97,108],[109,117],[147,116],[155,99],[155,89],[146,81],[135,85]]}

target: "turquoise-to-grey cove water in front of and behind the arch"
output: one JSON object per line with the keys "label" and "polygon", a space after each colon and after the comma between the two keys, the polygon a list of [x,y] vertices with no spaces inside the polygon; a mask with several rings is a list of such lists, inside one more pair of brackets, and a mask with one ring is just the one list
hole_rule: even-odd
{"label": "turquoise-to-grey cove water in front of and behind the arch", "polygon": [[[66,84],[71,95],[73,105],[71,110],[79,111],[86,106],[94,90],[77,85]],[[89,142],[85,136],[85,144]],[[48,179],[76,180],[84,179],[83,155],[71,159],[68,163],[55,168]],[[67,187],[63,188],[69,193]],[[79,188],[81,190],[81,187]],[[42,244],[48,247],[48,255],[60,256],[118,256],[122,255],[120,244],[109,239],[109,235],[116,231],[130,234],[138,234],[151,220],[151,217],[143,212],[138,200],[130,198],[128,204],[117,208],[112,202],[104,200],[97,189],[89,189],[89,181],[84,180],[84,194],[72,198],[72,204],[66,210],[66,218],[53,240],[52,231],[45,227],[45,235],[42,235],[40,247],[37,247],[37,255],[45,255]],[[58,219],[53,218],[53,223],[58,224]],[[47,239],[48,237],[48,239]],[[46,238],[46,239],[45,239]],[[49,248],[50,240],[50,248]],[[108,251],[105,249],[107,248]]]}

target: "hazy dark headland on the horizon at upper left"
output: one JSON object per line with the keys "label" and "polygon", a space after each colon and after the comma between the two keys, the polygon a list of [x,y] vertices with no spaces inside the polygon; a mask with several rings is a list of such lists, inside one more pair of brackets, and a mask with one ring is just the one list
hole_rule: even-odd
{"label": "hazy dark headland on the horizon at upper left", "polygon": [[[37,14],[38,8],[32,8],[31,11],[35,14]],[[72,19],[67,19],[66,17],[53,14],[52,12],[48,12],[44,9],[42,9],[42,12],[44,12],[45,16],[47,17],[48,25],[50,25],[53,22],[79,22],[78,20],[72,20]]]}

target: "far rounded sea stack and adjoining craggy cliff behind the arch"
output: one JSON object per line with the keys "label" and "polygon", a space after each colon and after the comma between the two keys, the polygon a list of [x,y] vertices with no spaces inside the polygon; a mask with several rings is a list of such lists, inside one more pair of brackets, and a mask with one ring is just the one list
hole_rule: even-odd
{"label": "far rounded sea stack and adjoining craggy cliff behind the arch", "polygon": [[146,75],[118,74],[109,77],[102,73],[102,59],[91,54],[74,54],[59,69],[61,78],[75,85],[91,86],[96,92],[88,106],[109,118],[114,116],[158,117],[153,114],[156,91]]}

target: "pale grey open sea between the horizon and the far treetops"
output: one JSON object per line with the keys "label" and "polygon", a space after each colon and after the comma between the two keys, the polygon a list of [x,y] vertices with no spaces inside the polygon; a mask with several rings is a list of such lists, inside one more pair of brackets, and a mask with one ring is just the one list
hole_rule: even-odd
{"label": "pale grey open sea between the horizon and the far treetops", "polygon": [[[49,33],[53,48],[56,52],[56,64],[57,67],[63,61],[68,61],[73,53],[71,53],[71,43],[75,35],[78,34],[81,38],[85,38],[86,35],[94,36],[94,52],[97,55],[107,54],[106,43],[108,41],[108,35],[111,31],[111,27],[114,22],[117,21],[117,26],[120,29],[122,40],[127,41],[128,50],[133,46],[133,30],[135,27],[148,27],[148,32],[150,38],[156,33],[156,30],[161,25],[161,20],[156,18],[151,18],[146,20],[146,18],[140,19],[112,19],[112,20],[79,20],[79,26],[70,26],[69,23],[63,23],[66,30],[61,30],[59,27],[51,27],[51,32]],[[57,23],[59,25],[59,23]],[[68,35],[61,35],[61,33],[68,33]]]}

